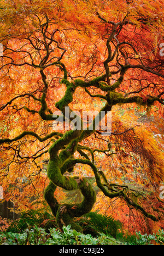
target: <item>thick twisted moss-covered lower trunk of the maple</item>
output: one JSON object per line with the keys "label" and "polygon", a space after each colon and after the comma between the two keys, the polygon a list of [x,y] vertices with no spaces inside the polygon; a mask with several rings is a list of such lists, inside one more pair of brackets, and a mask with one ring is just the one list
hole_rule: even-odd
{"label": "thick twisted moss-covered lower trunk of the maple", "polygon": [[[75,164],[73,153],[77,149],[79,133],[80,131],[67,131],[62,138],[52,144],[49,150],[48,177],[50,183],[45,189],[44,197],[50,205],[60,229],[63,225],[67,226],[68,224],[71,224],[74,229],[79,229],[78,225],[73,222],[74,217],[89,213],[96,202],[96,193],[85,177],[64,176],[66,171],[73,170]],[[68,146],[58,154],[58,151],[67,143]],[[83,194],[83,201],[81,203],[60,205],[54,197],[57,186],[68,191],[79,189]]]}

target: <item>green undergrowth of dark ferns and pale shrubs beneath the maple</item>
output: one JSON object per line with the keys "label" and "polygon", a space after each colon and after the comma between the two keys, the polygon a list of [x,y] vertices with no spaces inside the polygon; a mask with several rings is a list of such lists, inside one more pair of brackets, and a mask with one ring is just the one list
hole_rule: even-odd
{"label": "green undergrowth of dark ferns and pale shrubs beneath the maple", "polygon": [[13,221],[0,235],[0,244],[164,244],[163,230],[153,235],[124,234],[120,231],[121,222],[112,216],[90,212],[78,221],[83,233],[72,230],[70,225],[63,227],[61,232],[48,211],[31,209],[22,213],[20,219]]}

